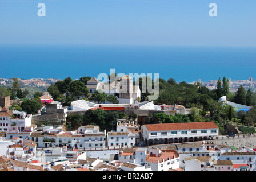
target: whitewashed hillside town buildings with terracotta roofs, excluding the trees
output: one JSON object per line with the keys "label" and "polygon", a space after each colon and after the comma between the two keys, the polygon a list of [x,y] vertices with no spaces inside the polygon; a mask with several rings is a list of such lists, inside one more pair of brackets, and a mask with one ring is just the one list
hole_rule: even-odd
{"label": "whitewashed hillside town buildings with terracotta roofs, excluding the trees", "polygon": [[[128,75],[122,79],[127,81],[128,87],[132,85]],[[21,101],[11,100],[10,96],[0,97],[0,170],[256,170],[256,144],[252,142],[256,139],[254,133],[239,133],[237,127],[231,125],[227,129],[229,133],[222,135],[214,121],[146,122],[143,117],[149,115],[162,113],[182,117],[193,110],[178,104],[157,105],[153,100],[141,102],[138,99],[141,97],[139,86],[134,86],[131,93],[120,93],[116,87],[118,84],[118,81],[102,84],[93,77],[87,80],[86,85],[89,94],[101,88],[117,98],[117,104],[110,101],[95,103],[81,97],[71,101],[69,106],[63,106],[62,102],[45,92],[39,97],[42,105],[36,113],[15,110],[11,107],[13,102]],[[219,102],[236,109],[252,108],[229,102],[226,97]],[[22,108],[25,108],[24,105]],[[75,126],[67,127],[70,117],[94,110],[106,113],[117,111],[135,117],[114,120],[109,125],[110,131],[94,121],[83,125],[79,122],[82,118],[75,118]],[[54,122],[59,125],[53,125]],[[250,146],[243,143],[243,139],[250,141]],[[235,144],[235,140],[239,144]]]}

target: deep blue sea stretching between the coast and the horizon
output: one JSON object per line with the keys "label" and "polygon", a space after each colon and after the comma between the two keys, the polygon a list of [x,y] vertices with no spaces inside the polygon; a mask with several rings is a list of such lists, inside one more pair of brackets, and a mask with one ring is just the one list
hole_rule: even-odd
{"label": "deep blue sea stretching between the coast and the horizon", "polygon": [[79,79],[111,72],[193,82],[256,78],[256,47],[0,45],[0,78]]}

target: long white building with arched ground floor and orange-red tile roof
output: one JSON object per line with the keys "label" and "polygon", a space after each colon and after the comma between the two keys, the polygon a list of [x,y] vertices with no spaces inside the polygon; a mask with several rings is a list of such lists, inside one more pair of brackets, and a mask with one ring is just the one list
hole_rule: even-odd
{"label": "long white building with arched ground floor and orange-red tile roof", "polygon": [[214,122],[150,124],[141,126],[141,136],[147,144],[194,142],[217,137]]}

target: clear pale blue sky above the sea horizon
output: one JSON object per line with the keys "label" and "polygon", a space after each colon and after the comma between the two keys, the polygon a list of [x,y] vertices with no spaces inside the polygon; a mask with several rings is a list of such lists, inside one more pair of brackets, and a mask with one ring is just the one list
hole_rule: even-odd
{"label": "clear pale blue sky above the sea horizon", "polygon": [[[39,17],[38,3],[46,17]],[[209,16],[216,3],[218,16]],[[255,0],[0,0],[0,44],[256,46]]]}

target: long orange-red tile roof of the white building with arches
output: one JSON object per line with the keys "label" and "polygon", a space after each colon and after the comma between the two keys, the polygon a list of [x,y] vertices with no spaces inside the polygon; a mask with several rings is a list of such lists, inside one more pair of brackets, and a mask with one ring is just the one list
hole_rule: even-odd
{"label": "long orange-red tile roof of the white building with arches", "polygon": [[218,129],[214,122],[165,123],[145,125],[149,131]]}

